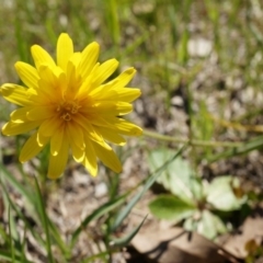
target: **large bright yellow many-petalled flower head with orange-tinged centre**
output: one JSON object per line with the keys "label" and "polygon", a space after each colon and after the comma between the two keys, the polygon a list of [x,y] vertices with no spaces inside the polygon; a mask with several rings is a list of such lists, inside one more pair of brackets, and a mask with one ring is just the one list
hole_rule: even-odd
{"label": "large bright yellow many-petalled flower head with orange-tinged centre", "polygon": [[[122,164],[106,141],[123,146],[123,135],[139,136],[141,129],[123,119],[133,111],[130,102],[140,90],[125,88],[136,70],[128,68],[117,78],[105,82],[118,61],[98,62],[99,44],[93,42],[83,52],[75,52],[68,34],[57,42],[57,64],[38,45],[31,48],[35,67],[19,61],[15,69],[27,87],[5,83],[0,94],[20,108],[2,127],[7,136],[34,130],[21,150],[25,162],[50,145],[48,178],[60,176],[69,151],[92,174],[98,173],[96,159],[115,172]],[[105,141],[106,140],[106,141]]]}

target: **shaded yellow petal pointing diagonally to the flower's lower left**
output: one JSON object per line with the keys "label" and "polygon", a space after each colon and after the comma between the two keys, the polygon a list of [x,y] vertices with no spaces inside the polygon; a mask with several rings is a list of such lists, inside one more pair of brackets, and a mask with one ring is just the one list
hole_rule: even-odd
{"label": "shaded yellow petal pointing diagonally to the flower's lower left", "polygon": [[32,135],[26,142],[24,144],[21,153],[20,153],[20,161],[25,162],[30,160],[31,158],[35,157],[48,142],[48,138],[46,139],[46,142],[41,147],[36,141],[37,133]]}

